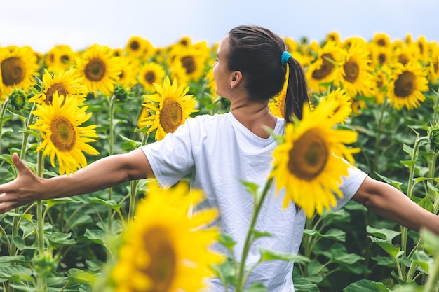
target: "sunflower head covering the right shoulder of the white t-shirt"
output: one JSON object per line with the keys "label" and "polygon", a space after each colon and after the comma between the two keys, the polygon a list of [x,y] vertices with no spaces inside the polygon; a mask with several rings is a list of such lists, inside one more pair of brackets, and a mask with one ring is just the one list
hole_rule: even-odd
{"label": "sunflower head covering the right shoulder of the white t-shirt", "polygon": [[273,151],[270,177],[275,178],[277,191],[285,188],[283,207],[292,201],[309,218],[336,206],[335,194],[343,196],[339,186],[342,176],[348,175],[349,164],[342,158],[353,162],[352,154],[358,152],[344,145],[355,142],[357,133],[335,127],[335,106],[330,102],[313,111],[304,106],[302,120],[288,123],[283,143]]}

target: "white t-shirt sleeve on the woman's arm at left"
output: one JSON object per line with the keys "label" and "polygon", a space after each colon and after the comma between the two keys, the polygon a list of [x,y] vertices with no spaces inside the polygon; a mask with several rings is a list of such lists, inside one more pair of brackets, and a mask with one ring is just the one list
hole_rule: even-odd
{"label": "white t-shirt sleeve on the woman's arm at left", "polygon": [[184,123],[165,138],[140,147],[161,187],[173,186],[194,168],[191,131]]}

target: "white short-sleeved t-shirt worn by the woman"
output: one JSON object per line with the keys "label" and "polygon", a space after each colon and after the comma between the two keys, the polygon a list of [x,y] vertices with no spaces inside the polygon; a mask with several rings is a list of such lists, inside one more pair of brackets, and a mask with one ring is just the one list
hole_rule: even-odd
{"label": "white short-sleeved t-shirt worn by the woman", "polygon": [[[283,134],[283,131],[284,120],[278,118],[274,132]],[[263,188],[271,171],[276,146],[273,137],[258,137],[239,123],[232,113],[224,113],[188,119],[173,134],[166,134],[163,140],[142,146],[142,151],[162,187],[172,186],[187,174],[192,174],[191,187],[203,190],[206,196],[200,207],[219,210],[217,224],[221,232],[238,242],[235,254],[240,259],[253,211],[252,195],[245,190],[241,180],[257,183]],[[366,176],[359,169],[349,169],[349,177],[344,178],[341,187],[344,197],[337,198],[335,211],[351,199]],[[255,228],[273,236],[257,239],[250,249],[248,265],[259,260],[259,246],[272,251],[299,251],[304,212],[296,212],[294,203],[283,209],[283,193],[275,196],[274,191],[273,186],[262,205]],[[215,249],[227,253],[219,244]],[[258,281],[268,291],[294,291],[292,265],[281,260],[262,263],[252,272],[248,284]],[[214,279],[210,291],[224,291],[224,287]]]}

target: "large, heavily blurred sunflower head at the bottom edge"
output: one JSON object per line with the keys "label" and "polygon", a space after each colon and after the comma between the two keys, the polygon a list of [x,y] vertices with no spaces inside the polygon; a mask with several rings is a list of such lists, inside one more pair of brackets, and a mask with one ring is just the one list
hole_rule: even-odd
{"label": "large, heavily blurred sunflower head at the bottom edge", "polygon": [[187,183],[163,190],[149,183],[146,199],[137,205],[135,220],[122,236],[119,260],[110,277],[114,291],[200,291],[213,277],[210,265],[224,256],[209,250],[219,232],[207,225],[217,210],[203,209],[191,216],[189,207],[203,199],[200,190],[189,193]]}

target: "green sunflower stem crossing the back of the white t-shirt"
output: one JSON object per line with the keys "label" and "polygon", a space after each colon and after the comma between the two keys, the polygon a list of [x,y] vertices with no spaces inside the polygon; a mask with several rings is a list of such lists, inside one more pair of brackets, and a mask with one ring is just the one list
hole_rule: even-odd
{"label": "green sunflower stem crossing the back of the white t-shirt", "polygon": [[269,189],[273,185],[273,178],[270,178],[266,181],[264,190],[262,190],[262,194],[259,196],[259,201],[255,200],[255,204],[253,206],[253,214],[252,219],[250,221],[250,226],[248,227],[247,237],[245,238],[244,247],[243,247],[243,254],[241,256],[241,263],[239,264],[239,272],[238,272],[238,279],[237,279],[237,292],[243,292],[244,286],[245,286],[245,279],[244,279],[244,272],[245,272],[245,261],[247,260],[248,251],[250,251],[250,246],[252,246],[253,243],[253,228],[255,228],[257,216],[259,215],[259,211],[261,210],[262,203],[264,202],[264,199],[266,195],[269,193]]}

